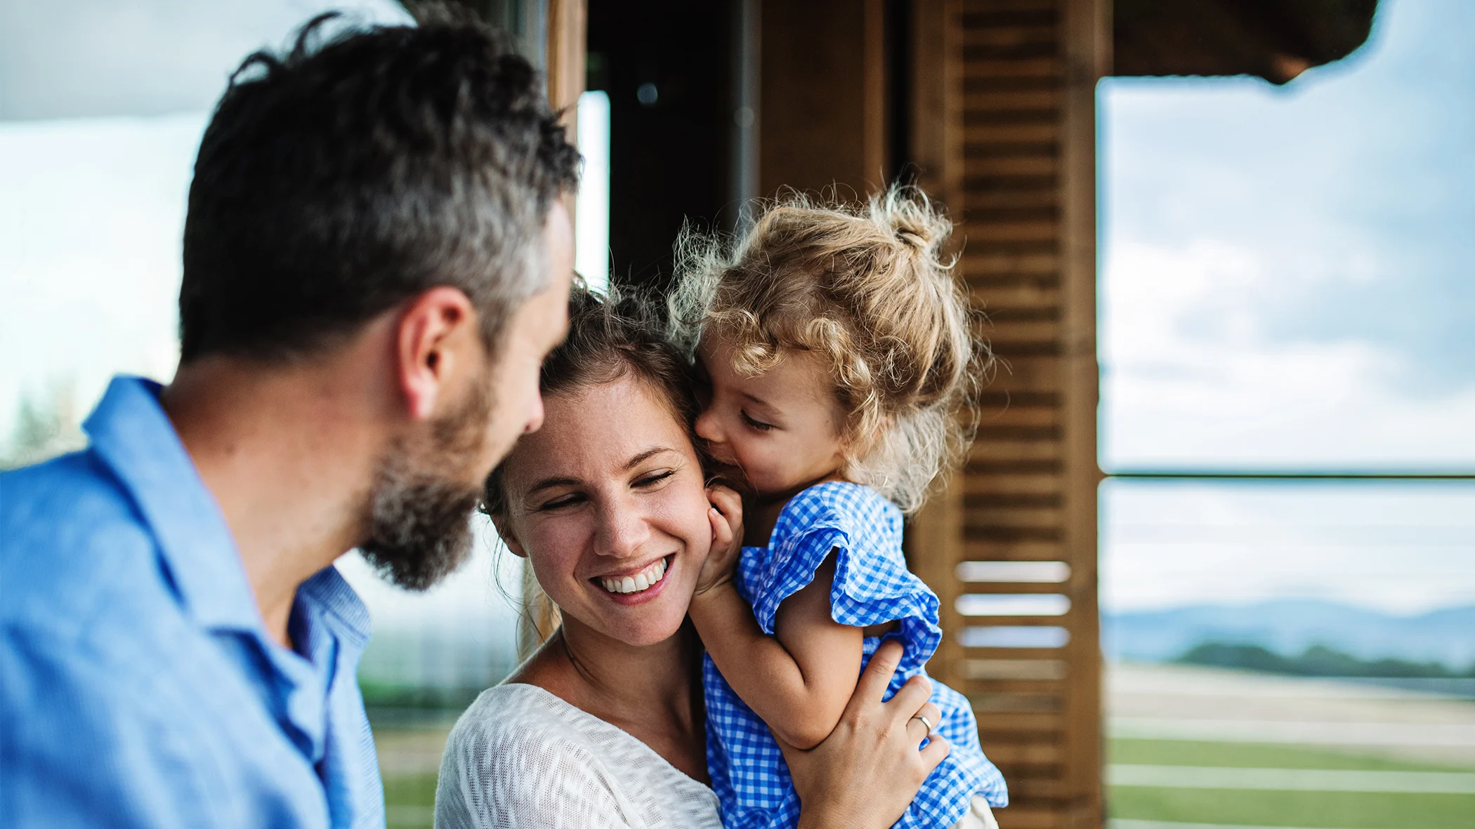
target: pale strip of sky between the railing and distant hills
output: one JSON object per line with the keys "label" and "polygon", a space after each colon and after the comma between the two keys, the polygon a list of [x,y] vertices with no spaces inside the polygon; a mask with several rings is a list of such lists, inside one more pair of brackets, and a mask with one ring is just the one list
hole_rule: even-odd
{"label": "pale strip of sky between the railing and distant hills", "polygon": [[1102,497],[1111,611],[1323,599],[1386,612],[1475,603],[1475,484],[1162,484]]}

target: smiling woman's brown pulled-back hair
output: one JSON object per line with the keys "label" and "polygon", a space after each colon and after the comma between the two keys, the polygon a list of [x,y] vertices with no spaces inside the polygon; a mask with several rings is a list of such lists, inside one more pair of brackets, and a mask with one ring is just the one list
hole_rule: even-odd
{"label": "smiling woman's brown pulled-back hair", "polygon": [[[608,384],[633,375],[659,392],[690,435],[696,419],[690,364],[665,338],[661,302],[634,291],[603,298],[575,285],[568,301],[568,338],[543,361],[538,391],[544,395]],[[693,445],[698,445],[695,435]],[[482,510],[507,513],[503,466],[487,478]]]}

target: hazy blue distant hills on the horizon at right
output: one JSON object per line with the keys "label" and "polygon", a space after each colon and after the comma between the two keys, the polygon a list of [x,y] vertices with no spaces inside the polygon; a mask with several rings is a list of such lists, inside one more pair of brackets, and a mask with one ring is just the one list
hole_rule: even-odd
{"label": "hazy blue distant hills on the horizon at right", "polygon": [[1438,661],[1463,671],[1475,664],[1475,605],[1416,617],[1291,600],[1102,615],[1102,648],[1114,659],[1164,662],[1204,642],[1286,656],[1325,645],[1361,659]]}

